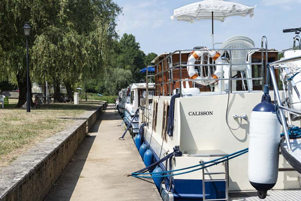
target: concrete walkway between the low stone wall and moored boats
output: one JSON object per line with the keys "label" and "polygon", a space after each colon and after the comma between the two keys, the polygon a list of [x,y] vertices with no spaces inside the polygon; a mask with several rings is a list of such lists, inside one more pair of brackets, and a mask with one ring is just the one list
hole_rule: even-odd
{"label": "concrete walkway between the low stone wall and moored boats", "polygon": [[162,200],[153,180],[126,175],[144,168],[113,104],[101,115],[45,201],[60,200]]}

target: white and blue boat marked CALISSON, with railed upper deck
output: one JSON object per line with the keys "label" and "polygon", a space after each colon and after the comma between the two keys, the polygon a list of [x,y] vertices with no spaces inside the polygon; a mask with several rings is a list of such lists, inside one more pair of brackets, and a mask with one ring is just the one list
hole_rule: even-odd
{"label": "white and blue boat marked CALISSON, with railed upper deck", "polygon": [[[264,46],[264,41],[266,46]],[[139,115],[140,125],[145,123],[146,126],[143,126],[143,133],[140,133],[143,135],[141,139],[144,144],[138,147],[139,152],[146,166],[153,162],[156,164],[174,150],[176,150],[175,153],[179,153],[179,150],[182,153],[181,156],[179,154],[170,158],[168,163],[158,163],[161,169],[158,171],[157,167],[154,170],[156,173],[152,174],[163,200],[228,200],[228,193],[254,191],[255,188],[250,182],[254,184],[257,181],[252,180],[254,175],[250,172],[257,166],[266,167],[269,174],[272,172],[270,169],[276,169],[276,173],[273,172],[275,175],[272,176],[277,182],[270,184],[270,178],[267,178],[267,183],[263,181],[263,186],[266,187],[267,184],[274,190],[300,189],[299,173],[281,154],[279,155],[280,124],[274,119],[269,121],[274,122],[276,127],[279,126],[279,133],[274,133],[279,138],[278,150],[276,144],[277,156],[273,159],[266,159],[264,158],[265,151],[263,151],[265,153],[263,157],[255,156],[252,152],[259,161],[263,161],[263,164],[252,161],[248,166],[248,154],[245,153],[249,146],[250,118],[251,114],[256,113],[256,110],[252,112],[253,109],[262,100],[265,79],[264,76],[233,78],[232,75],[236,72],[232,70],[235,66],[264,66],[263,61],[268,58],[268,50],[265,48],[267,47],[266,37],[263,37],[261,42],[261,47],[254,48],[237,46],[225,49],[201,48],[175,51],[171,54],[162,54],[153,61],[156,69],[155,75],[147,75],[147,77],[155,78],[155,94],[152,103],[148,104],[146,101],[140,111],[140,114],[144,114]],[[252,62],[250,57],[244,63],[235,61],[235,55],[242,51],[252,52],[255,49],[261,51],[260,62]],[[217,62],[217,58],[220,57],[217,56],[218,52],[222,52],[228,58]],[[263,58],[264,53],[266,58]],[[192,58],[192,63],[190,58]],[[213,63],[213,60],[216,62]],[[226,76],[223,77],[219,72],[221,69],[219,66],[223,66],[223,71],[225,68],[230,69],[228,78],[225,79]],[[261,68],[261,75],[264,75],[264,69]],[[257,70],[260,71],[259,68]],[[193,72],[196,76],[190,75]],[[248,82],[248,90],[236,90],[238,81],[242,83],[248,80],[262,84],[262,90],[252,90],[252,82]],[[197,85],[197,83],[204,84]],[[205,83],[209,83],[209,87],[204,87]],[[265,91],[266,93],[268,91]],[[270,91],[270,94],[273,98],[273,91]],[[281,91],[280,96],[284,97],[284,95]],[[128,114],[131,114],[135,109],[128,110],[130,111]],[[272,112],[271,115],[273,115]],[[255,118],[254,115],[253,118]],[[261,123],[259,121],[259,124]],[[268,126],[273,128],[272,124]],[[257,125],[253,123],[253,127],[256,128]],[[258,127],[262,128],[262,125]],[[139,128],[135,127],[135,129]],[[256,129],[253,129],[253,134],[254,130]],[[256,146],[253,150],[262,148],[258,145],[253,146]],[[273,149],[275,150],[275,146]],[[230,154],[238,151],[244,155],[221,163],[213,162],[210,163],[213,166],[193,171],[205,167],[207,164],[204,162],[218,160],[221,157],[231,158]],[[269,162],[273,167],[266,164]],[[181,174],[187,171],[185,168],[191,166],[193,168],[187,169],[192,170],[191,172]],[[153,171],[153,169],[149,170]],[[175,170],[179,171],[164,172]],[[141,172],[134,173],[133,176],[145,177],[143,175],[145,173],[141,175]],[[169,174],[174,176],[169,176]],[[163,175],[164,180],[158,175]],[[262,183],[259,182],[259,184]],[[260,189],[258,190],[260,192]]]}

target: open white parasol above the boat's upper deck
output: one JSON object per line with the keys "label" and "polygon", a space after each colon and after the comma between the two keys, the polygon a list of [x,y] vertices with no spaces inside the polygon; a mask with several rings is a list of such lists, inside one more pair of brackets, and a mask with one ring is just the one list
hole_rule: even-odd
{"label": "open white parasol above the boat's upper deck", "polygon": [[[256,6],[255,6],[256,7]],[[234,2],[225,2],[222,0],[205,0],[196,2],[174,10],[173,20],[193,23],[196,20],[212,19],[212,46],[214,45],[213,21],[219,20],[224,22],[226,17],[242,16],[249,14],[250,18],[254,16],[254,8]]]}

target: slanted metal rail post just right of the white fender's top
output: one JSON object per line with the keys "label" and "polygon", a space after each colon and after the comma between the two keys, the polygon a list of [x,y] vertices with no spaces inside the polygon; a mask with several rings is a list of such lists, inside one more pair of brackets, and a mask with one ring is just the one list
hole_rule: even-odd
{"label": "slanted metal rail post just right of the white fender's top", "polygon": [[[271,75],[271,79],[272,79],[273,86],[274,86],[274,93],[275,93],[275,96],[276,96],[276,99],[277,99],[277,104],[278,104],[278,106],[281,106],[282,103],[281,103],[281,99],[280,99],[280,95],[279,95],[279,91],[278,91],[278,86],[277,86],[277,82],[276,82],[276,78],[275,78],[274,67],[271,67],[270,64],[268,64],[267,68],[270,70],[270,75]],[[283,127],[283,130],[284,130],[284,136],[285,136],[287,149],[290,152],[291,151],[291,145],[290,145],[289,135],[288,135],[287,127],[286,127],[285,116],[284,116],[284,113],[283,113],[282,109],[279,108],[279,112],[280,112],[282,127]],[[276,133],[276,135],[277,134],[278,133]]]}

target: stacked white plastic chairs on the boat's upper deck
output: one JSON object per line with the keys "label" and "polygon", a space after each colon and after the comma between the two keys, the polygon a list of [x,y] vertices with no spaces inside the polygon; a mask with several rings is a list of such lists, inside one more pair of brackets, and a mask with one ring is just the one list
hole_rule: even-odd
{"label": "stacked white plastic chairs on the boat's upper deck", "polygon": [[[255,48],[255,43],[252,39],[247,38],[245,36],[234,36],[228,38],[225,42],[223,42],[221,49],[236,49],[236,48]],[[253,50],[243,50],[237,49],[232,50],[230,61],[232,63],[232,71],[245,71],[246,78],[252,78],[252,68],[251,65],[235,65],[235,64],[247,64],[252,60],[252,55],[255,53],[255,49]],[[230,55],[230,51],[221,51],[221,55],[227,52]],[[224,78],[229,79],[229,70],[230,65],[223,69]],[[248,91],[253,91],[253,83],[252,80],[247,80]],[[220,91],[222,89],[222,84],[219,85]],[[229,90],[229,81],[225,80],[225,90]]]}

